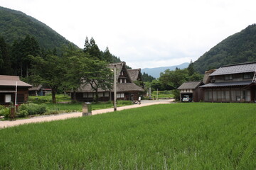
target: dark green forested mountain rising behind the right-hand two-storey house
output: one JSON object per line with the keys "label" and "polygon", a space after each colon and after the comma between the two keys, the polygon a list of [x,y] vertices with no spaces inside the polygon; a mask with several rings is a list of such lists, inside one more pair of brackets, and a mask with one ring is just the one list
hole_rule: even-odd
{"label": "dark green forested mountain rising behind the right-hand two-storey house", "polygon": [[193,63],[201,74],[227,64],[256,61],[256,24],[248,26],[215,45]]}

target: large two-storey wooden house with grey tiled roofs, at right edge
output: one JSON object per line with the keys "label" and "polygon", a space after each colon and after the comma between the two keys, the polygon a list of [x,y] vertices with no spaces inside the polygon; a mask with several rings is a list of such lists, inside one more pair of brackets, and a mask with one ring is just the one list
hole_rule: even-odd
{"label": "large two-storey wooden house with grey tiled roofs, at right edge", "polygon": [[255,102],[256,62],[232,64],[220,67],[209,74],[209,82],[203,86],[206,102]]}

